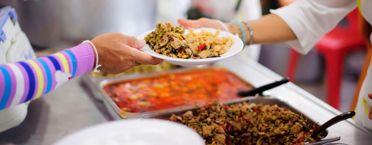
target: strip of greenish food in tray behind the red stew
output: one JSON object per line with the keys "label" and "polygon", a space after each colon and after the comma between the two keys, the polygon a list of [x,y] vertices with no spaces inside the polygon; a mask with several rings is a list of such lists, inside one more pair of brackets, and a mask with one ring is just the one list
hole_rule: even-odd
{"label": "strip of greenish food in tray behind the red stew", "polygon": [[135,73],[146,73],[146,72],[160,72],[163,70],[169,70],[180,67],[179,65],[173,65],[169,62],[164,61],[161,65],[139,65],[132,67],[131,69],[126,70],[123,73],[119,74],[112,74],[112,73],[106,73],[106,72],[94,72],[90,73],[90,75],[95,77],[113,77],[113,76],[121,76],[121,75],[127,75],[127,74],[135,74]]}

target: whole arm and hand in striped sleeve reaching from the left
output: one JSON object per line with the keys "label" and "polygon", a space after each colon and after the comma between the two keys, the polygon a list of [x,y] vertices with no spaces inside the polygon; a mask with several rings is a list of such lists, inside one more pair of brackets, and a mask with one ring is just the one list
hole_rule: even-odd
{"label": "whole arm and hand in striped sleeve reaching from the left", "polygon": [[[157,65],[163,60],[141,52],[143,40],[110,33],[92,41],[97,48],[99,70],[120,73],[140,64]],[[95,50],[89,43],[33,60],[0,65],[0,110],[37,99],[94,68]]]}

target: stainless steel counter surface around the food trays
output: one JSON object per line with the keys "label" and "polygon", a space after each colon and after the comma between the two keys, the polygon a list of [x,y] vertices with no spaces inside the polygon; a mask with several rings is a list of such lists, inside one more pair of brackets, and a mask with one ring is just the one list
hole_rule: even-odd
{"label": "stainless steel counter surface around the food trays", "polygon": [[[282,76],[242,54],[214,65],[227,68],[254,87],[282,79]],[[0,144],[51,144],[87,126],[118,119],[111,115],[100,99],[99,89],[92,90],[95,84],[87,83],[89,78],[89,75],[84,75],[70,80],[48,95],[32,101],[25,121],[16,128],[0,133]],[[268,90],[264,95],[275,95],[319,124],[341,113],[291,82]],[[330,129],[341,137],[333,143],[362,145],[372,142],[372,132],[355,125],[351,119],[339,122]]]}

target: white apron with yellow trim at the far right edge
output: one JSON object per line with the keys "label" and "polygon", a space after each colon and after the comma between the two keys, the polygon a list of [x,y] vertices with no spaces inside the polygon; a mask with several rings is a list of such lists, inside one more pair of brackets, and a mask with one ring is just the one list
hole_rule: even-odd
{"label": "white apron with yellow trim at the far right edge", "polygon": [[[372,24],[372,0],[358,0],[358,9],[366,21]],[[370,36],[372,42],[372,34]],[[372,62],[367,70],[366,78],[360,88],[358,102],[356,106],[355,122],[372,131],[372,120],[368,118],[369,109],[372,106],[372,99],[368,98],[368,94],[372,93]]]}

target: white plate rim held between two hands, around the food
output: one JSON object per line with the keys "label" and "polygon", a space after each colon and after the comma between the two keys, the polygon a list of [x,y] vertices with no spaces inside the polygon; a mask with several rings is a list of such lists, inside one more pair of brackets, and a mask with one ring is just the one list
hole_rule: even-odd
{"label": "white plate rim held between two hands, around the food", "polygon": [[[154,30],[155,29],[144,32],[140,36],[138,36],[137,38],[138,39],[144,39],[147,36],[147,34],[153,32]],[[212,33],[215,33],[217,31],[217,29],[202,27],[202,28],[196,28],[195,32],[200,32],[200,30],[207,30],[207,31],[212,32]],[[185,29],[184,34],[187,34],[187,33],[189,33],[189,29]],[[209,63],[216,62],[217,60],[221,60],[221,59],[225,59],[225,58],[234,56],[243,49],[243,46],[244,46],[243,42],[241,41],[241,39],[239,37],[235,36],[234,34],[231,34],[229,32],[225,32],[225,31],[221,30],[221,32],[219,33],[218,36],[219,37],[229,36],[232,39],[234,39],[234,43],[231,45],[229,51],[224,53],[223,55],[221,55],[221,57],[212,57],[212,58],[204,58],[204,59],[174,58],[174,57],[165,56],[165,55],[161,55],[159,53],[154,52],[154,50],[151,50],[151,48],[148,44],[146,44],[145,47],[143,47],[141,49],[141,51],[146,52],[153,57],[164,59],[167,62],[173,63],[175,65],[196,66],[196,65],[206,65],[206,64],[209,64]]]}

